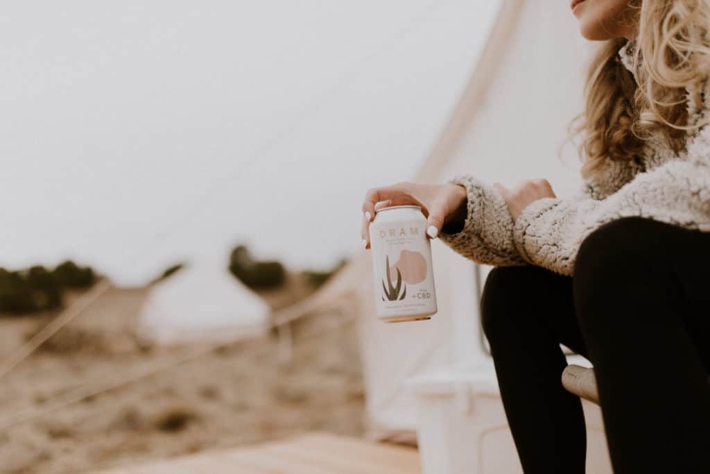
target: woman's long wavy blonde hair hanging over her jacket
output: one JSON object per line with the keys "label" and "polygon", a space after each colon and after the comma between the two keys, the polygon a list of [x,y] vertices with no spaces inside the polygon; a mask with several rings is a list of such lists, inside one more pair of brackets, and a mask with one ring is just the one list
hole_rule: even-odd
{"label": "woman's long wavy blonde hair hanging over her jacket", "polygon": [[632,1],[633,73],[618,51],[626,38],[606,41],[591,61],[584,112],[574,122],[582,176],[603,173],[609,161],[633,160],[643,142],[659,136],[682,151],[687,134],[704,123],[689,123],[688,100],[702,104],[710,72],[710,0]]}

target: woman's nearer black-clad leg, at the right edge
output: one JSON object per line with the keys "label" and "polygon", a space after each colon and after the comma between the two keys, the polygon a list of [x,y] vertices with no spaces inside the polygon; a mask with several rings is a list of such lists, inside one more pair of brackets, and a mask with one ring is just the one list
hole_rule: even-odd
{"label": "woman's nearer black-clad leg, at the right edge", "polygon": [[710,473],[710,234],[640,218],[582,242],[574,301],[615,473]]}

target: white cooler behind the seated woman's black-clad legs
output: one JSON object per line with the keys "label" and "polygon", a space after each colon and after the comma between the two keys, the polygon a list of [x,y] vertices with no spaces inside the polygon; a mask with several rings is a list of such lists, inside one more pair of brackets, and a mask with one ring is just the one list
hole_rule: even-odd
{"label": "white cooler behind the seated woman's black-clad legs", "polygon": [[[570,363],[589,366],[571,355]],[[422,474],[523,473],[498,392],[493,362],[408,381],[416,394]],[[582,400],[586,472],[611,474],[599,406]]]}

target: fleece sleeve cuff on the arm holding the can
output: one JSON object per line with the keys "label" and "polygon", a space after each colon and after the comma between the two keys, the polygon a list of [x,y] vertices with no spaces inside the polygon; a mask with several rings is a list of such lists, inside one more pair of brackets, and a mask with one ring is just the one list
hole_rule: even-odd
{"label": "fleece sleeve cuff on the arm holding the can", "polygon": [[466,187],[463,227],[444,225],[439,239],[467,259],[495,266],[525,265],[513,242],[513,218],[501,193],[470,175],[447,181]]}

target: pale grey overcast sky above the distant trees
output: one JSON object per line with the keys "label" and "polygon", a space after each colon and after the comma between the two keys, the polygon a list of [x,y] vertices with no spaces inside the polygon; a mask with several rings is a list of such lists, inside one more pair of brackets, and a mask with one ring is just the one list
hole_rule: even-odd
{"label": "pale grey overcast sky above the distant trees", "polygon": [[239,243],[332,266],[360,248],[366,190],[427,156],[497,7],[7,5],[0,266],[72,258],[133,285]]}

